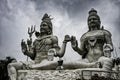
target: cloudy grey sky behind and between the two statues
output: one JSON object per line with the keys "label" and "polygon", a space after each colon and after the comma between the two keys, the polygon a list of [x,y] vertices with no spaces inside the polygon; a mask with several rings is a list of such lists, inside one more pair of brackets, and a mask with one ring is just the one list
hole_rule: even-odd
{"label": "cloudy grey sky behind and between the two statues", "polygon": [[[21,40],[29,38],[27,29],[39,25],[44,13],[53,18],[53,33],[62,45],[64,35],[80,39],[88,30],[88,11],[95,8],[105,29],[112,33],[112,41],[119,55],[120,46],[120,0],[0,0],[0,59],[12,56],[26,60],[21,52]],[[33,36],[35,39],[35,36]],[[80,44],[80,42],[79,42]],[[79,59],[80,56],[68,43],[63,59]]]}

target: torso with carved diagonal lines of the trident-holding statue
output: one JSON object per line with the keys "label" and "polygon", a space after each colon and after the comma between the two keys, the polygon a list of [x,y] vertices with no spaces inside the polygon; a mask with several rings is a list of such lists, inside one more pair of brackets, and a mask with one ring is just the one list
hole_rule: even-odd
{"label": "torso with carved diagonal lines of the trident-holding statue", "polygon": [[47,59],[48,50],[53,48],[53,38],[54,36],[47,36],[41,39],[36,39],[35,41],[35,61],[40,62],[43,59]]}

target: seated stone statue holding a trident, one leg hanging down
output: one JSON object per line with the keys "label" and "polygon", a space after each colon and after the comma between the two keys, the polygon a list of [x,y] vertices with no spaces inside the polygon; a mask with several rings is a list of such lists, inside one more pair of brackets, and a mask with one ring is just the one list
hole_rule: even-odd
{"label": "seated stone statue holding a trident, one leg hanging down", "polygon": [[[51,18],[48,14],[43,16],[40,25],[40,32],[35,33],[37,38],[34,42],[32,42],[31,36],[35,32],[35,28],[28,28],[30,39],[27,40],[27,44],[22,40],[21,47],[24,55],[30,57],[32,61],[9,64],[8,72],[11,80],[17,79],[17,70],[19,69],[37,69],[39,64],[43,65],[44,63],[51,62],[54,56],[59,58],[63,57],[66,43],[69,41],[69,36],[65,36],[63,45],[60,48],[58,46],[58,38],[53,35],[52,29]],[[52,68],[51,66],[49,67]]]}

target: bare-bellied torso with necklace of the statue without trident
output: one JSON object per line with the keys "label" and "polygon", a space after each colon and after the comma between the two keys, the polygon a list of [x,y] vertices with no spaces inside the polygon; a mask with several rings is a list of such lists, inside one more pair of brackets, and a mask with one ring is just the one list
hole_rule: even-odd
{"label": "bare-bellied torso with necklace of the statue without trident", "polygon": [[97,61],[103,55],[105,35],[104,30],[94,30],[85,33],[81,37],[81,42],[84,44],[83,50],[87,50],[86,58],[90,62]]}

